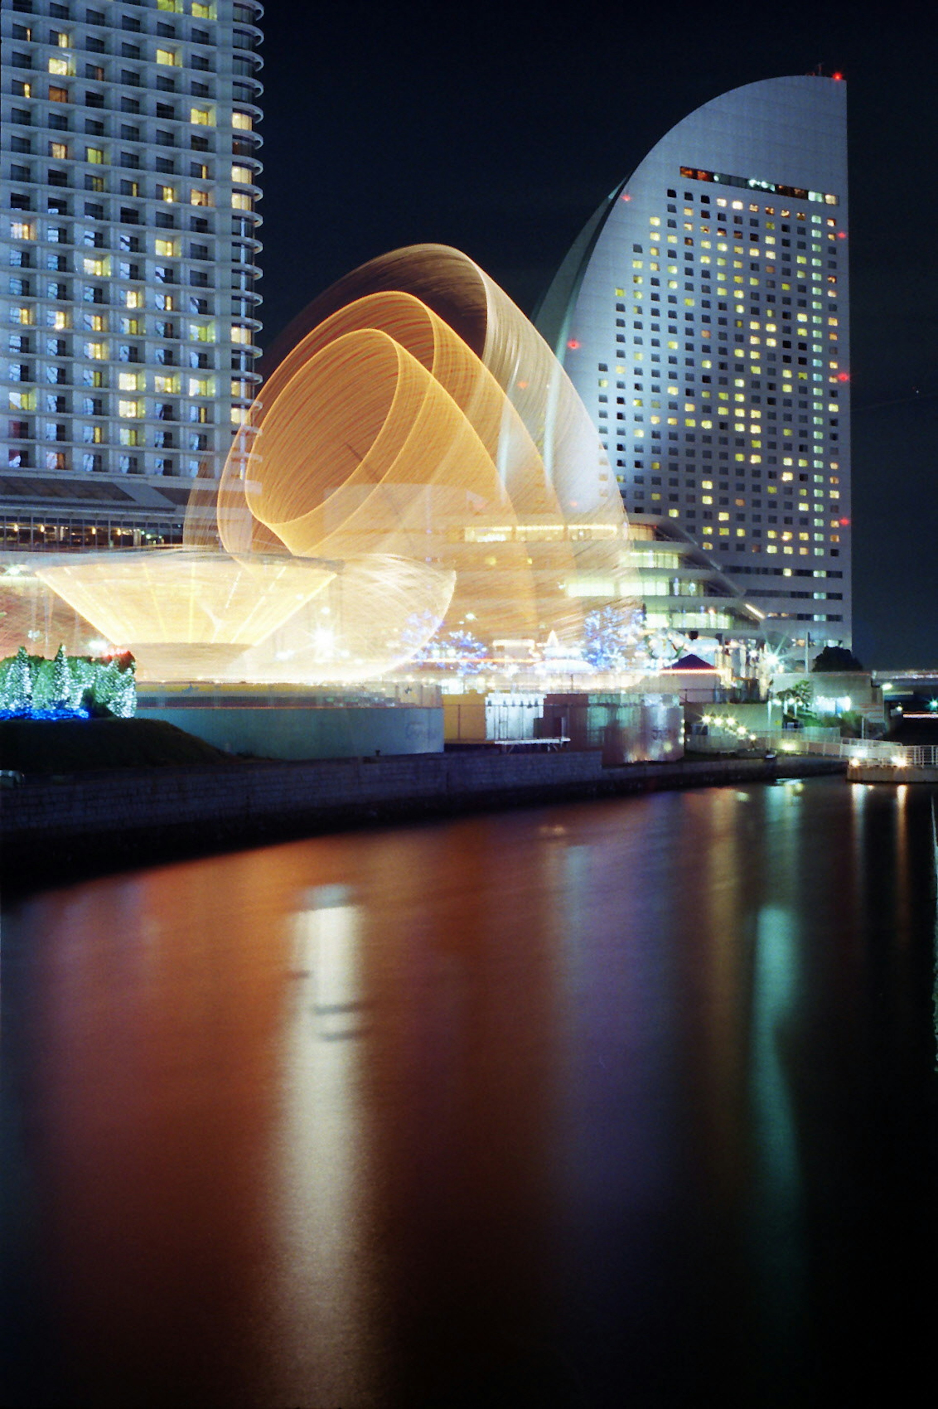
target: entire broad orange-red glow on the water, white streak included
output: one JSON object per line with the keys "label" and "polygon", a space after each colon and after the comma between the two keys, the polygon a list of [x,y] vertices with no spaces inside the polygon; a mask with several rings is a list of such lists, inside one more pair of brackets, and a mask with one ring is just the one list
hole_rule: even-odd
{"label": "entire broad orange-red glow on the water, white streak included", "polygon": [[480,1343],[554,1372],[562,851],[468,823],[420,852],[324,838],[28,903],[66,1401],[410,1402]]}

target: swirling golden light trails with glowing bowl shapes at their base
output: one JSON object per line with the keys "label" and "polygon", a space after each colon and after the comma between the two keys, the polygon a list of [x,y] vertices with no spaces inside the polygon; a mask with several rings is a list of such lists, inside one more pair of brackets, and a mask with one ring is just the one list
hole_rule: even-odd
{"label": "swirling golden light trails with glowing bowl shapes at their base", "polygon": [[220,483],[193,488],[182,551],[41,573],[101,634],[163,678],[351,681],[441,624],[573,645],[584,610],[621,597],[627,526],[596,430],[470,259],[373,259],[284,342]]}

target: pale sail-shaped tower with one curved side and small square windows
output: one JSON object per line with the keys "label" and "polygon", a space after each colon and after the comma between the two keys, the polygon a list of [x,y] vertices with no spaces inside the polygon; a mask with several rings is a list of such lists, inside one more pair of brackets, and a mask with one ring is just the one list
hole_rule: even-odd
{"label": "pale sail-shaped tower with one curved side and small square windows", "polygon": [[537,318],[630,513],[806,648],[851,638],[846,234],[845,83],[749,83],[613,192]]}

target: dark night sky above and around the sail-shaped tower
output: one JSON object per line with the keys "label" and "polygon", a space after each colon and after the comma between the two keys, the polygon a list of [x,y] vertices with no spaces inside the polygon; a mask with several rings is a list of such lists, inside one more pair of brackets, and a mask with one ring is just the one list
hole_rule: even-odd
{"label": "dark night sky above and around the sail-shaped tower", "polygon": [[580,227],[701,103],[849,83],[853,648],[938,668],[938,123],[931,6],[294,4],[263,18],[269,341],[365,259],[434,241],[531,313]]}

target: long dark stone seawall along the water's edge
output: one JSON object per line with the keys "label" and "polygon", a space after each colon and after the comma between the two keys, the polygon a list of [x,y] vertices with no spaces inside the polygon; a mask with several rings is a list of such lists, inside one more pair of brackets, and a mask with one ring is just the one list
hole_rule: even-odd
{"label": "long dark stone seawall along the water's edge", "polygon": [[656,788],[838,772],[832,759],[682,759],[603,768],[599,752],[431,754],[120,769],[25,779],[0,795],[3,874],[54,882],[337,827]]}

